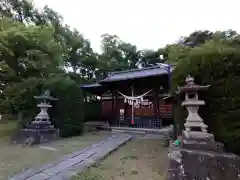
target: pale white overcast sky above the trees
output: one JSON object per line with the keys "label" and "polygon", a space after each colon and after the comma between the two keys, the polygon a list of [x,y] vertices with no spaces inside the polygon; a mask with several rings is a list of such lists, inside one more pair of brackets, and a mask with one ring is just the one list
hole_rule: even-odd
{"label": "pale white overcast sky above the trees", "polygon": [[195,30],[240,32],[240,0],[33,0],[64,17],[100,51],[101,35],[116,34],[139,49],[158,49]]}

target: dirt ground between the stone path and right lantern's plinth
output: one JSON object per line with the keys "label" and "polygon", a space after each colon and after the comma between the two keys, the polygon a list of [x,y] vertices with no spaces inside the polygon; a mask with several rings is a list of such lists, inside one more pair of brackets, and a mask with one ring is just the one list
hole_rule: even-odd
{"label": "dirt ground between the stone path and right lantern's plinth", "polygon": [[132,140],[73,180],[165,180],[167,152],[161,140]]}

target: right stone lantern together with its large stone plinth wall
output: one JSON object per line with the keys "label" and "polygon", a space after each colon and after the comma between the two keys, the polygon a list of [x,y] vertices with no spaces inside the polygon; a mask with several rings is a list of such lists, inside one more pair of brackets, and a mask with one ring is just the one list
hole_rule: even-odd
{"label": "right stone lantern together with its large stone plinth wall", "polygon": [[181,144],[170,144],[168,180],[240,179],[239,156],[226,153],[223,144],[207,132],[207,125],[198,115],[199,106],[205,104],[198,99],[198,92],[208,88],[196,85],[191,76],[186,78],[186,85],[179,88],[185,95],[182,105],[188,110],[188,117]]}

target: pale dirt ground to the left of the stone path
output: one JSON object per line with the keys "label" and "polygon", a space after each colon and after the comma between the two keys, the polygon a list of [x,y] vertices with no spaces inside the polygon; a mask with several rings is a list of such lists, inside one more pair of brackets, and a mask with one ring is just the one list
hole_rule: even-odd
{"label": "pale dirt ground to the left of the stone path", "polygon": [[107,136],[109,136],[108,133],[85,133],[83,136],[60,139],[28,148],[10,144],[7,136],[4,138],[2,136],[0,138],[0,180],[8,179],[21,170],[57,160],[62,155],[85,148]]}

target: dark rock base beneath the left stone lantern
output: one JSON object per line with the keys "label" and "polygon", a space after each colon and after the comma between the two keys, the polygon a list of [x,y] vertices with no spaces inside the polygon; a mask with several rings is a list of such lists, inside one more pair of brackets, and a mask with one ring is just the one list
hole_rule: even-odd
{"label": "dark rock base beneath the left stone lantern", "polygon": [[55,128],[48,129],[20,129],[13,142],[31,146],[56,140],[59,138],[59,132]]}

